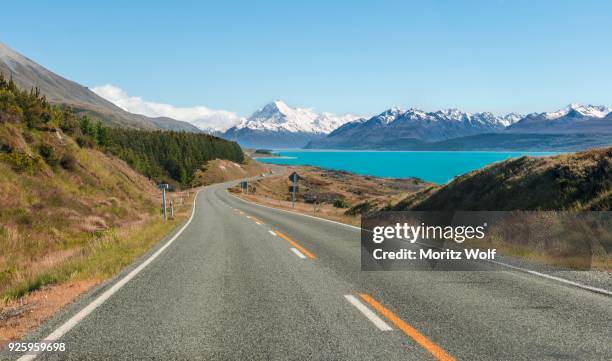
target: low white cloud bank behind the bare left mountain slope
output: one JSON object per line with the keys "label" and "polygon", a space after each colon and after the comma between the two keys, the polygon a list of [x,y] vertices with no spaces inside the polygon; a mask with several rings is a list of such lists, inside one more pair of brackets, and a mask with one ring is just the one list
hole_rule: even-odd
{"label": "low white cloud bank behind the bare left mountain slope", "polygon": [[130,96],[123,89],[111,84],[96,86],[92,90],[130,113],[183,120],[203,130],[212,128],[224,131],[243,119],[234,112],[209,109],[205,106],[181,108],[170,104],[149,102],[140,97]]}

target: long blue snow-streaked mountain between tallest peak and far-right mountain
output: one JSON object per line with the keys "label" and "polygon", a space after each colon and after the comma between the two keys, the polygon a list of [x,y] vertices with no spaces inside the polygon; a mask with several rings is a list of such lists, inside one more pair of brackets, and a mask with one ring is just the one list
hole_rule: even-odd
{"label": "long blue snow-streaked mountain between tallest peak and far-right mountain", "polygon": [[326,138],[311,141],[307,148],[387,149],[391,144],[413,147],[500,132],[521,118],[516,113],[496,116],[488,112],[472,114],[457,109],[425,112],[414,108],[391,108],[370,119],[346,123]]}

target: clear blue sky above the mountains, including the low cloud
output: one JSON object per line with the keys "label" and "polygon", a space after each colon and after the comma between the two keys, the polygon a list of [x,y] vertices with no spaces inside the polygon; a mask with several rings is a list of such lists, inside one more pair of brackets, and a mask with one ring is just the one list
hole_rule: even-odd
{"label": "clear blue sky above the mountains, including the low cloud", "polygon": [[32,0],[2,12],[0,41],[48,69],[219,124],[275,99],[359,115],[612,105],[608,0]]}

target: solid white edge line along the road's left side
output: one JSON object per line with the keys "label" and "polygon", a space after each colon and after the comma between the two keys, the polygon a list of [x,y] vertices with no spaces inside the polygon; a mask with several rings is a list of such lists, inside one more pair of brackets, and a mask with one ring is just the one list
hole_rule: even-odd
{"label": "solid white edge line along the road's left side", "polygon": [[[63,325],[55,329],[51,334],[44,338],[43,341],[56,341],[60,337],[64,336],[68,331],[70,331],[74,326],[76,326],[79,322],[81,322],[85,317],[87,317],[90,313],[92,313],[98,306],[103,304],[106,300],[108,300],[112,295],[114,295],[117,291],[119,291],[126,283],[128,283],[132,278],[136,277],[138,273],[140,273],[145,267],[147,267],[151,262],[153,262],[166,248],[168,248],[177,238],[183,233],[185,228],[191,223],[193,217],[195,215],[195,206],[196,200],[198,198],[198,191],[193,198],[193,208],[191,209],[191,216],[187,220],[187,222],[179,229],[166,244],[164,244],[160,249],[158,249],[155,253],[151,255],[151,257],[147,258],[144,262],[142,262],[138,267],[134,268],[130,273],[128,273],[121,280],[117,281],[111,288],[102,293],[98,298],[93,300],[90,304],[85,306],[85,308],[81,309],[76,315],[72,316],[68,321],[66,321]],[[29,353],[18,358],[18,361],[29,361],[34,360],[39,352]]]}

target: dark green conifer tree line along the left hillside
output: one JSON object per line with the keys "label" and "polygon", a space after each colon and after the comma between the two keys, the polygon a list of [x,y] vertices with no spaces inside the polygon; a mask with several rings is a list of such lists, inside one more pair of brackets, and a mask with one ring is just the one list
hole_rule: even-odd
{"label": "dark green conifer tree line along the left hillside", "polygon": [[157,182],[180,186],[189,186],[206,161],[244,161],[235,142],[204,133],[108,127],[87,115],[77,115],[70,107],[51,105],[38,89],[21,90],[0,74],[2,122],[20,122],[28,129],[61,129],[81,147],[97,148]]}

